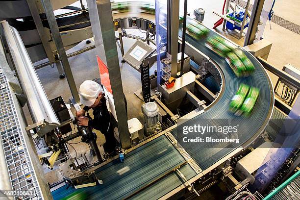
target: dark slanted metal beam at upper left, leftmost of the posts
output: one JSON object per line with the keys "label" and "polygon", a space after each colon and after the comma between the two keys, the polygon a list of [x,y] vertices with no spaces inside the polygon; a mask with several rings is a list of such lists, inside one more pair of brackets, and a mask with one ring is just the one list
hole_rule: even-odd
{"label": "dark slanted metal beam at upper left, leftmost of the posts", "polygon": [[35,1],[34,0],[26,0],[26,1],[27,1],[29,10],[31,12],[34,24],[36,26],[36,29],[39,33],[40,38],[41,38],[44,50],[45,50],[45,52],[47,54],[47,57],[49,59],[49,62],[53,63],[53,62],[55,62],[55,60],[54,60],[54,56],[53,56],[53,53],[51,51],[50,44],[49,44],[50,38],[48,38],[48,37],[50,37],[50,35],[47,35],[46,31],[44,30],[44,26],[43,26],[42,20],[40,18],[40,13],[39,13],[39,10],[38,10],[38,8],[35,4]]}

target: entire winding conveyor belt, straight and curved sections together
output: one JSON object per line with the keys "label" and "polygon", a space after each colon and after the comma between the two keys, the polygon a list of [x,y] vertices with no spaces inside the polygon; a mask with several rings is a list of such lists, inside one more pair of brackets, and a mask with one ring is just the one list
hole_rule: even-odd
{"label": "entire winding conveyor belt, straight and curved sections together", "polygon": [[[81,15],[84,14],[80,14],[80,16]],[[130,16],[128,13],[119,13],[117,15],[119,15],[117,18],[122,18],[122,16]],[[117,15],[114,15],[114,19]],[[85,14],[85,16],[82,18],[78,16],[79,15],[64,17],[61,18],[61,20],[58,19],[58,25],[61,26],[83,22],[86,21],[88,17],[87,14]],[[69,23],[68,20],[64,21],[67,18],[72,20],[72,23]],[[17,23],[22,24],[22,22]],[[22,30],[21,26],[19,28]],[[26,27],[23,26],[23,28]],[[67,28],[75,29],[76,26]],[[214,31],[210,31],[209,33],[210,36],[214,34],[217,33]],[[183,125],[194,125],[200,122],[201,119],[235,119],[240,123],[247,123],[248,127],[243,131],[238,132],[239,135],[231,135],[232,137],[240,138],[242,144],[257,137],[257,135],[265,128],[268,119],[271,116],[274,104],[272,84],[262,65],[249,52],[244,50],[247,57],[249,57],[249,59],[255,65],[256,70],[250,77],[237,78],[228,64],[225,62],[224,58],[218,56],[204,46],[205,41],[203,39],[196,41],[187,35],[186,41],[210,57],[219,66],[219,68],[222,70],[224,80],[222,91],[218,99],[215,100],[211,106],[205,109],[204,113],[189,120]],[[260,95],[257,100],[257,104],[250,118],[237,117],[228,112],[228,103],[234,96],[240,83],[246,83],[250,86],[255,86],[260,89]],[[173,129],[172,134],[176,136],[177,130],[178,128]],[[180,141],[180,139],[178,139],[178,141]],[[165,151],[162,152],[162,150]],[[185,150],[198,163],[200,168],[205,170],[215,164],[221,158],[225,157],[233,149],[220,148],[220,145],[216,143],[203,143],[203,145],[201,144],[198,146],[195,144],[190,146],[185,145]],[[159,152],[162,153],[158,154]],[[122,199],[130,195],[132,192],[138,190],[143,185],[146,185],[151,180],[157,178],[159,175],[169,171],[182,161],[184,161],[183,157],[178,153],[177,150],[175,150],[166,136],[162,135],[145,144],[144,146],[129,152],[125,156],[124,163],[112,162],[101,167],[96,174],[101,180],[103,180],[103,185],[78,190],[72,188],[66,190],[66,186],[64,186],[52,192],[52,195],[54,199],[60,199],[75,192],[79,192],[87,194],[89,199]],[[128,173],[123,175],[119,175],[117,173],[119,170],[122,171],[122,169],[128,169],[127,167],[129,167]],[[182,171],[182,173],[188,179],[196,175],[195,171],[189,165],[185,165],[184,167],[180,168],[180,171]],[[146,199],[147,197],[147,199],[149,199],[149,197],[151,197],[151,199],[157,199],[181,184],[182,180],[179,179],[175,173],[173,173],[160,180],[155,185],[148,187],[134,198]]]}

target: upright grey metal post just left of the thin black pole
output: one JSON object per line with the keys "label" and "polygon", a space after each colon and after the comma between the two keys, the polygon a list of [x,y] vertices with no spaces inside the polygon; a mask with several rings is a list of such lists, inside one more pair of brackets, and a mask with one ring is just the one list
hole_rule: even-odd
{"label": "upright grey metal post just left of the thin black pole", "polygon": [[178,29],[179,29],[179,0],[168,0],[168,53],[172,55],[171,75],[177,74]]}

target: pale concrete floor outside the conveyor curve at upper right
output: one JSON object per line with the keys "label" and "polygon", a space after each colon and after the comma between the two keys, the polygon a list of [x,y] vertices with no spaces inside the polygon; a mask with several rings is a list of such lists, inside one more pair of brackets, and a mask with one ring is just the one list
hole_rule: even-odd
{"label": "pale concrete floor outside the conveyor curve at upper right", "polygon": [[[220,17],[213,13],[213,11],[222,13],[224,0],[209,0],[209,1],[197,1],[197,0],[188,0],[188,12],[193,14],[193,10],[198,7],[205,9],[205,16],[203,24],[212,28],[213,24],[217,22]],[[253,4],[253,0],[250,1]],[[196,6],[195,6],[196,5]],[[274,14],[291,21],[297,25],[300,25],[300,19],[295,17],[298,16],[300,9],[300,0],[276,0],[274,6]],[[280,25],[269,21],[267,22],[263,38],[273,43],[268,62],[273,64],[277,69],[282,70],[282,67],[285,64],[291,64],[298,69],[300,69],[300,56],[299,56],[299,46],[300,46],[300,35],[292,32]],[[236,44],[243,46],[245,36],[241,40],[237,39],[238,34],[235,31],[231,30],[222,30],[222,25],[217,27],[216,31],[228,39],[232,40]],[[273,85],[278,79],[277,76],[269,73]]]}

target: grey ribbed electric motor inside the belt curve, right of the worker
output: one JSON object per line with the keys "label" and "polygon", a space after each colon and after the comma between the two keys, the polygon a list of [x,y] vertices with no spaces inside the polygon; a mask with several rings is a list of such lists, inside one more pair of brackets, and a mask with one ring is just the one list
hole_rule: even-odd
{"label": "grey ribbed electric motor inside the belt curve, right of the worker", "polygon": [[158,122],[159,109],[156,103],[148,102],[142,105],[142,112],[144,113],[145,135],[149,136],[161,130],[161,125]]}

